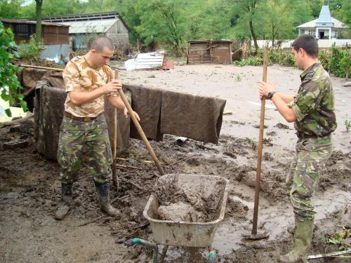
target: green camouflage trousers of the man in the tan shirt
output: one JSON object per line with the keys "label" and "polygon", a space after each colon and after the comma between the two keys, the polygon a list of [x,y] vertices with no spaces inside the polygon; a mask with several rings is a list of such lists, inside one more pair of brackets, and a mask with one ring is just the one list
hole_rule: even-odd
{"label": "green camouflage trousers of the man in the tan shirt", "polygon": [[76,182],[83,165],[83,154],[88,156],[88,166],[95,182],[103,184],[112,177],[112,151],[105,116],[92,121],[75,121],[64,117],[58,142],[60,181]]}

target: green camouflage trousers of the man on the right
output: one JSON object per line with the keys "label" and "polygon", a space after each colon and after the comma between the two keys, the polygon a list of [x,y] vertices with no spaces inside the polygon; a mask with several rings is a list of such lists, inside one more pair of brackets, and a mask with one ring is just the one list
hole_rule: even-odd
{"label": "green camouflage trousers of the man on the right", "polygon": [[296,154],[286,177],[286,187],[293,205],[293,213],[299,221],[314,219],[311,198],[317,188],[319,175],[333,151],[330,136],[299,139]]}

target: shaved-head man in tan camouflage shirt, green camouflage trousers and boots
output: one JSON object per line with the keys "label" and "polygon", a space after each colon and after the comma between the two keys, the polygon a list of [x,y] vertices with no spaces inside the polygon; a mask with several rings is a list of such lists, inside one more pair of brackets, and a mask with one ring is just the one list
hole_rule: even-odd
{"label": "shaved-head man in tan camouflage shirt, green camouflage trousers and boots", "polygon": [[[95,39],[91,50],[69,61],[62,74],[67,98],[58,145],[63,202],[55,214],[57,220],[64,219],[69,213],[72,184],[78,179],[85,151],[102,211],[111,216],[119,213],[110,205],[109,198],[112,152],[103,114],[105,96],[114,107],[124,110],[125,116],[128,110],[118,95],[122,83],[113,78],[112,70],[107,65],[113,53],[114,46],[110,39]],[[138,114],[134,114],[139,119]]]}

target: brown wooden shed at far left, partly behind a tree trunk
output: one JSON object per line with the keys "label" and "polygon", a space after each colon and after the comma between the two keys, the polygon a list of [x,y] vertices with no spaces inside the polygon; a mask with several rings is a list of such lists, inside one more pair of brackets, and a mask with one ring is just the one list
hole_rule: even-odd
{"label": "brown wooden shed at far left, partly behind a tree trunk", "polygon": [[[35,34],[37,22],[24,19],[1,18],[5,28],[11,28],[15,43],[20,45],[22,41],[29,41]],[[41,52],[41,58],[55,60],[62,58],[69,60],[69,34],[68,26],[58,23],[41,22],[41,34],[44,39],[45,50]]]}

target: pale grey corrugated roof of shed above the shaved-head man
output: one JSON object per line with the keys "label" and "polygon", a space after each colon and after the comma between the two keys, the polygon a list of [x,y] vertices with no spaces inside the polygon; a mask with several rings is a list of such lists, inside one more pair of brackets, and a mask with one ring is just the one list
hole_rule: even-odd
{"label": "pale grey corrugated roof of shed above the shaved-head man", "polygon": [[69,25],[69,34],[105,33],[118,19],[60,22]]}

